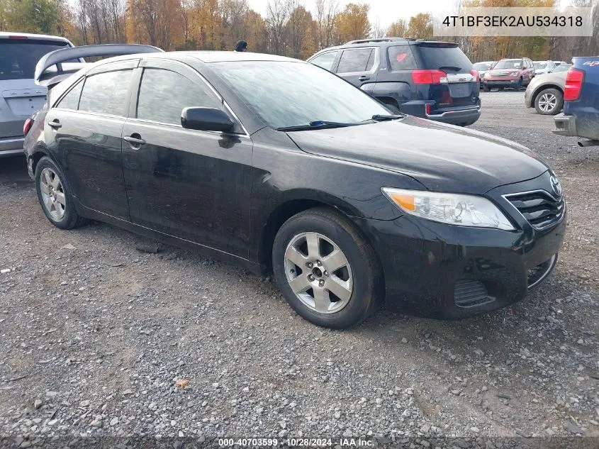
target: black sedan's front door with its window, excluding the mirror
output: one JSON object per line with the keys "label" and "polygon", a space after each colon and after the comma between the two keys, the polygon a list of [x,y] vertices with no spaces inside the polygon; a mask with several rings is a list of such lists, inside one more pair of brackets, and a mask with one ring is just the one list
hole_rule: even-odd
{"label": "black sedan's front door with its window, excluding the mirror", "polygon": [[148,60],[137,76],[123,128],[131,221],[247,258],[252,140],[181,127],[186,107],[223,107],[191,67]]}

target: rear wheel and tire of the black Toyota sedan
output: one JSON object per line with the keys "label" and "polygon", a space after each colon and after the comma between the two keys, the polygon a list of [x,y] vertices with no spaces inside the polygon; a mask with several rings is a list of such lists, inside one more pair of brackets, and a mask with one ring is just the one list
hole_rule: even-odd
{"label": "rear wheel and tire of the black Toyota sedan", "polygon": [[45,216],[54,226],[72,229],[86,223],[75,210],[65,174],[50,157],[42,157],[35,167],[35,189]]}

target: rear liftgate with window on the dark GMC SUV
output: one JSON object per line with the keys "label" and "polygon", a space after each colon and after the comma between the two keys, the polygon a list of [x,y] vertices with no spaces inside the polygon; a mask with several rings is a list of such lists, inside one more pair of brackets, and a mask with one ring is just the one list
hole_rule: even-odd
{"label": "rear liftgate with window on the dark GMC SUV", "polygon": [[[476,106],[480,85],[472,74],[472,63],[453,43],[423,42],[412,45],[420,70],[439,70],[440,82],[417,84],[424,99],[435,101],[436,109]],[[433,77],[435,79],[435,77]]]}

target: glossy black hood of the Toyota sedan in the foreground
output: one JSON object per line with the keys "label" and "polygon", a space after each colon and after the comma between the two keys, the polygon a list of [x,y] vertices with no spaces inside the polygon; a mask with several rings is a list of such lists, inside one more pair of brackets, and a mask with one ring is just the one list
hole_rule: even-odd
{"label": "glossy black hood of the Toyota sedan in the foreground", "polygon": [[407,174],[433,191],[483,194],[549,169],[510,140],[412,116],[288,134],[306,153]]}

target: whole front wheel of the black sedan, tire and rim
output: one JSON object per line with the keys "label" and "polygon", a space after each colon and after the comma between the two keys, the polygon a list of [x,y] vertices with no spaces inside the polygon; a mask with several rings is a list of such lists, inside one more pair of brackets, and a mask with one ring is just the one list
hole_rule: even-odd
{"label": "whole front wheel of the black sedan, tire and rim", "polygon": [[363,321],[384,292],[371,245],[330,209],[308,209],[289,218],[276,233],[272,264],[286,301],[318,326],[340,329]]}

